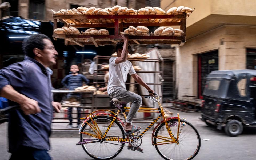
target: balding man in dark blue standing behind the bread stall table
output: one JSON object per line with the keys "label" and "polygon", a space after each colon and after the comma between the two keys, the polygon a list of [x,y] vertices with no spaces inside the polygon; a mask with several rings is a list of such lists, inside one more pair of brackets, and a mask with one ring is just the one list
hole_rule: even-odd
{"label": "balding man in dark blue standing behind the bread stall table", "polygon": [[[85,82],[86,85],[88,85],[90,83],[90,81],[82,74],[78,74],[79,68],[77,65],[72,65],[70,67],[70,71],[71,74],[66,75],[62,81],[61,84],[67,88],[69,88],[69,90],[74,90],[77,87],[81,87],[83,85],[83,82]],[[68,94],[67,97],[71,97],[71,96],[76,96],[78,99],[80,99],[80,94]],[[72,108],[70,107],[68,110],[68,117],[72,118]],[[81,116],[81,108],[77,108],[77,128],[79,128],[79,124],[80,124],[80,116]],[[69,123],[69,128],[73,128],[72,126],[72,119],[69,119],[70,123]]]}

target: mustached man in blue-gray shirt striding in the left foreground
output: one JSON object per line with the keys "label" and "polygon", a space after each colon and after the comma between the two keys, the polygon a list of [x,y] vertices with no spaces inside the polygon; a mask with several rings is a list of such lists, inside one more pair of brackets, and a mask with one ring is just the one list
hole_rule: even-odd
{"label": "mustached man in blue-gray shirt striding in the left foreground", "polygon": [[51,96],[50,67],[57,51],[44,34],[31,35],[22,43],[27,58],[0,70],[0,96],[20,109],[9,113],[9,152],[13,159],[47,159],[53,109],[61,104]]}

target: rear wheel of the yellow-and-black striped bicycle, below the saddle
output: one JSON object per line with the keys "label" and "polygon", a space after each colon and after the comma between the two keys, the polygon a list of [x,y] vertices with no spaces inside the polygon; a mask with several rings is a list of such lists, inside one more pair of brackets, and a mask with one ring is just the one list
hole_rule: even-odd
{"label": "rear wheel of the yellow-and-black striped bicycle, below the saddle", "polygon": [[[105,133],[107,130],[107,127],[110,125],[113,118],[107,117],[107,116],[97,116],[94,117],[93,120],[97,123],[99,130],[102,134]],[[90,125],[92,125],[91,119],[88,121]],[[81,132],[91,133],[95,134],[94,131],[91,130],[91,127],[85,123],[83,126]],[[114,121],[112,127],[107,132],[106,137],[108,136],[118,136],[120,135],[120,138],[125,139],[124,136],[124,130],[120,123],[118,123],[117,120]],[[83,140],[91,139],[89,142],[95,142],[99,139],[95,139],[95,137],[92,137],[90,135],[86,134],[80,134],[80,141],[83,142]],[[116,157],[123,149],[124,144],[117,143],[117,141],[103,141],[103,142],[96,142],[96,143],[87,143],[82,145],[83,150],[92,158],[94,159],[112,159]]]}

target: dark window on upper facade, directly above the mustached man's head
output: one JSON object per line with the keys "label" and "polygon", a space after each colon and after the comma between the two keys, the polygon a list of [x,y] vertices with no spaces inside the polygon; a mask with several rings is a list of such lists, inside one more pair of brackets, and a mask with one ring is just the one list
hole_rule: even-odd
{"label": "dark window on upper facade, directly above the mustached man's head", "polygon": [[29,9],[29,18],[43,20],[44,15],[45,15],[45,1],[31,0],[30,9]]}

